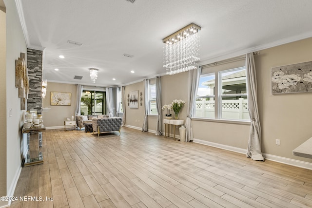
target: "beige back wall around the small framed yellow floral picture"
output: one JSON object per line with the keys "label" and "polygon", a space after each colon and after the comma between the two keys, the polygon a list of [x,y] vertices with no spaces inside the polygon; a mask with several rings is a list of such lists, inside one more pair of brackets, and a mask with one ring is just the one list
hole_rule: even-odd
{"label": "beige back wall around the small framed yellow floral picture", "polygon": [[[70,106],[55,106],[50,105],[51,92],[71,93],[72,103]],[[48,112],[43,112],[43,124],[48,127],[62,127],[64,120],[72,115],[75,116],[76,109],[76,85],[48,82],[47,93],[44,99],[42,99],[43,108],[51,108]]]}

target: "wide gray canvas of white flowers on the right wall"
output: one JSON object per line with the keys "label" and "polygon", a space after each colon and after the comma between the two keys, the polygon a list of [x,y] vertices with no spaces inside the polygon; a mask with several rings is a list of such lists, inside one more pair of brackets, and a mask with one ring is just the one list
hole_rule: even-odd
{"label": "wide gray canvas of white flowers on the right wall", "polygon": [[312,92],[312,61],[272,68],[272,94]]}

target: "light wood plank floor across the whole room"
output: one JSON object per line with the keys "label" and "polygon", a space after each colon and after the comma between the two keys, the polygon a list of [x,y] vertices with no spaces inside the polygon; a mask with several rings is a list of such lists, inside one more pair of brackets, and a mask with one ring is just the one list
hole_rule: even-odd
{"label": "light wood plank floor across the whole room", "polygon": [[14,196],[44,201],[11,207],[312,207],[312,170],[129,128],[99,137],[46,130],[42,152],[44,164],[22,168]]}

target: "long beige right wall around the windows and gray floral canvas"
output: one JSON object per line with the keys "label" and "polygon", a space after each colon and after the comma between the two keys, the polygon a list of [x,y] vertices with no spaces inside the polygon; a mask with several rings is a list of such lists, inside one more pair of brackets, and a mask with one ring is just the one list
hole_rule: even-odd
{"label": "long beige right wall around the windows and gray floral canvas", "polygon": [[[292,155],[292,150],[312,137],[311,131],[311,93],[285,95],[271,94],[271,68],[288,64],[312,61],[312,38],[288,43],[260,51],[255,56],[258,84],[258,106],[262,125],[262,151],[266,154],[312,162],[311,159]],[[203,73],[216,72],[244,65],[243,61],[203,69]],[[161,76],[162,105],[170,104],[173,99],[187,101],[188,72]],[[143,91],[143,82],[126,86],[129,91]],[[142,127],[144,107],[127,108],[126,124]],[[179,119],[186,118],[187,105],[182,108]],[[165,112],[162,112],[165,116]],[[247,149],[249,123],[231,123],[192,120],[194,138],[207,142]],[[149,130],[156,130],[156,116],[149,116]],[[164,126],[163,126],[164,132]],[[178,133],[178,131],[177,131]],[[280,139],[280,145],[275,145]]]}

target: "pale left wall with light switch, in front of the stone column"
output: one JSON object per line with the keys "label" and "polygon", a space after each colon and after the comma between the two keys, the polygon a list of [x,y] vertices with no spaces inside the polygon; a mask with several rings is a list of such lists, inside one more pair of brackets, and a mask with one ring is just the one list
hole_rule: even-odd
{"label": "pale left wall with light switch, in front of the stone column", "polygon": [[[6,86],[1,89],[6,89],[6,96],[4,96],[6,97],[6,106],[4,105],[2,109],[5,112],[6,132],[8,134],[6,135],[6,146],[1,144],[1,148],[6,147],[6,166],[1,166],[1,170],[6,170],[6,176],[0,175],[0,180],[6,180],[6,194],[13,195],[14,185],[18,180],[21,170],[21,127],[24,121],[24,112],[20,110],[18,89],[15,87],[15,59],[20,57],[20,53],[26,54],[27,47],[15,1],[4,0],[4,3],[6,6]],[[1,20],[2,17],[0,18]],[[9,108],[12,109],[12,116],[8,115]],[[3,187],[1,187],[0,192],[2,191]],[[6,194],[1,194],[1,196]]]}

